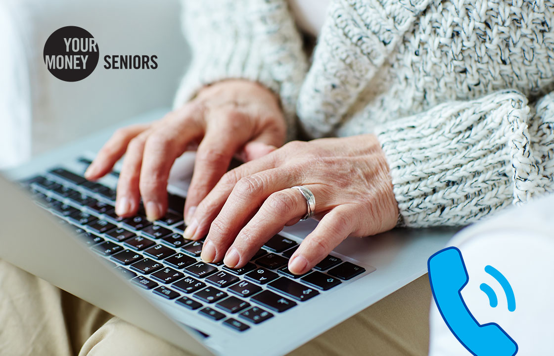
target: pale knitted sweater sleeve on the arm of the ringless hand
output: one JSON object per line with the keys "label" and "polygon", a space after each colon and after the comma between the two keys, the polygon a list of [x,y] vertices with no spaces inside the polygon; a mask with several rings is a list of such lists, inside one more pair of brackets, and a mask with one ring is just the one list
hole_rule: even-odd
{"label": "pale knitted sweater sleeve on the arm of the ringless hand", "polygon": [[295,137],[296,100],[307,71],[302,40],[284,0],[183,0],[183,32],[192,63],[174,106],[225,79],[259,82],[280,99]]}

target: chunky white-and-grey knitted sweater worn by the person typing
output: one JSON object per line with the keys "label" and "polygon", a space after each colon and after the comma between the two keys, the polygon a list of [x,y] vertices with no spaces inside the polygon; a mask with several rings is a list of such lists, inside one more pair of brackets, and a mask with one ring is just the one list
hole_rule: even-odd
{"label": "chunky white-and-grey knitted sweater worn by the person typing", "polygon": [[285,0],[184,1],[176,105],[260,82],[290,138],[376,133],[405,225],[468,224],[554,191],[553,25],[552,0],[332,0],[308,70]]}

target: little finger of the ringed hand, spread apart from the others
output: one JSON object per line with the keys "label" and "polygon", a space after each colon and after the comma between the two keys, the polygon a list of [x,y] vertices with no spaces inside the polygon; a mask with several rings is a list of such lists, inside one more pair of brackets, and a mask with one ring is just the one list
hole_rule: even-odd
{"label": "little finger of the ringed hand, spread apart from the others", "polygon": [[329,255],[356,230],[355,213],[349,205],[340,205],[327,213],[291,256],[289,271],[295,275],[304,274]]}

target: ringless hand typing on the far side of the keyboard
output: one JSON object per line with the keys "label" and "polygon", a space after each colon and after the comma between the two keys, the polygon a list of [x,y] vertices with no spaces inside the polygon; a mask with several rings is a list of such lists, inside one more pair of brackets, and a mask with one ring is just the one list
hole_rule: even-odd
{"label": "ringless hand typing on the far side of the keyboard", "polygon": [[244,161],[261,157],[285,142],[286,124],[279,101],[265,87],[228,80],[202,89],[181,109],[146,125],[121,128],[102,147],[85,172],[90,180],[110,172],[123,156],[117,183],[116,213],[135,215],[140,197],[148,220],[167,210],[167,180],[175,159],[196,145],[194,174],[185,221],[227,171],[234,154]]}

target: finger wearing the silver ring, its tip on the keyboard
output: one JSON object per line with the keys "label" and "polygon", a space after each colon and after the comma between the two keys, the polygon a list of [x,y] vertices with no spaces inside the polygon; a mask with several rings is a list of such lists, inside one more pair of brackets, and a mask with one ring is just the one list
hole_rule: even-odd
{"label": "finger wearing the silver ring, its tip on the keyboard", "polygon": [[[317,184],[306,185],[317,197],[325,195]],[[318,206],[326,209],[327,202],[318,200]],[[225,254],[225,265],[231,268],[243,267],[271,236],[281,231],[285,224],[300,220],[306,215],[307,204],[297,188],[288,188],[275,192],[265,200],[261,208],[244,226]]]}

